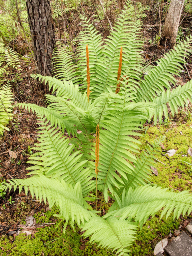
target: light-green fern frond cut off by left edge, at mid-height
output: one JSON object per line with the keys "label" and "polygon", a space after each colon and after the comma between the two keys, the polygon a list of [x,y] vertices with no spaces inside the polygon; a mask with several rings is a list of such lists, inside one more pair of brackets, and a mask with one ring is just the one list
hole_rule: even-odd
{"label": "light-green fern frond cut off by left edge, at mid-height", "polygon": [[12,103],[13,94],[10,91],[10,86],[3,86],[0,90],[0,135],[4,130],[9,130],[6,124],[12,118]]}

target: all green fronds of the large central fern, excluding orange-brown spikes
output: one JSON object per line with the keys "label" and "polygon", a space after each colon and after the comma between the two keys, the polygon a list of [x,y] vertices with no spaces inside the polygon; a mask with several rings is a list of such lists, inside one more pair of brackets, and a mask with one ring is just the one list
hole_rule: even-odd
{"label": "all green fronds of the large central fern, excluding orange-brown spikes", "polygon": [[[54,56],[56,77],[34,76],[48,83],[52,95],[46,95],[48,107],[20,104],[35,111],[41,120],[37,153],[30,157],[34,164],[32,177],[11,180],[7,187],[24,187],[32,196],[56,204],[60,217],[86,230],[84,236],[101,246],[128,255],[128,246],[135,239],[138,226],[149,216],[164,208],[162,216],[174,217],[192,211],[189,192],[168,192],[150,184],[150,166],[163,138],[146,146],[140,157],[136,136],[141,136],[142,124],[154,118],[162,122],[168,116],[167,103],[172,114],[178,106],[192,101],[192,82],[171,90],[173,74],[178,73],[188,54],[192,38],[187,38],[149,67],[143,76],[142,40],[140,25],[134,21],[130,4],[116,21],[105,44],[95,28],[82,17],[84,30],[80,33],[78,63],[72,65],[67,49],[58,48]],[[90,100],[86,94],[86,45],[89,50]],[[121,77],[117,81],[122,53]],[[59,63],[61,63],[59,65]],[[76,62],[75,62],[76,63]],[[74,70],[73,70],[74,68]],[[144,70],[145,68],[143,68]],[[143,76],[143,77],[142,77]],[[59,79],[58,79],[59,78]],[[116,94],[116,85],[120,91]],[[166,88],[166,90],[164,89]],[[100,128],[98,190],[108,202],[114,203],[105,216],[99,216],[86,202],[95,188],[95,137]],[[71,134],[72,139],[64,133]],[[91,201],[91,199],[90,199]],[[98,209],[96,209],[98,210]]]}

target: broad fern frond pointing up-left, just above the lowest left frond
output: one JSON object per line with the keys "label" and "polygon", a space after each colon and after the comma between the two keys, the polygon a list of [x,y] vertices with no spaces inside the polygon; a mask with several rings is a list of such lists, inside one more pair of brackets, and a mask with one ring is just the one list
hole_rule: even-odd
{"label": "broad fern frond pointing up-left, just above the lowest left frond", "polygon": [[28,170],[33,170],[30,174],[44,174],[50,178],[59,178],[73,187],[77,182],[81,183],[82,193],[88,194],[94,189],[93,176],[89,168],[85,168],[88,160],[82,160],[80,151],[73,152],[74,146],[70,145],[70,140],[63,137],[52,125],[41,122],[38,141],[35,144],[35,153],[30,156],[28,163],[34,164]]}

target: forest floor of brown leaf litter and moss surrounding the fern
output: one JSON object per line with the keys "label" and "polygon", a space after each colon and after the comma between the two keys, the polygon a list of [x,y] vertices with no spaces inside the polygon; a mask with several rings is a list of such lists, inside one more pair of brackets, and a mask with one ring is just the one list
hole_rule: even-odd
{"label": "forest floor of brown leaf litter and moss surrounding the fern", "polygon": [[[188,23],[185,24],[186,28]],[[184,26],[184,25],[183,25]],[[164,54],[164,48],[151,43],[155,32],[152,32],[152,24],[146,21],[143,26],[145,38],[144,58],[146,63],[157,60]],[[186,31],[186,30],[184,30]],[[154,34],[152,34],[154,33]],[[24,65],[20,73],[20,79],[11,82],[14,93],[14,102],[34,103],[45,106],[44,93],[40,91],[36,81],[30,79],[30,74],[35,74],[33,64]],[[186,83],[192,78],[192,57],[187,60],[181,76],[176,76],[177,85]],[[8,77],[14,80],[14,74]],[[153,170],[153,182],[173,190],[192,190],[192,108],[179,110],[168,123],[154,128],[153,124],[146,124],[146,136],[142,143],[150,143],[156,136],[165,135],[166,142],[162,145],[162,155],[157,161],[156,170]],[[0,140],[0,182],[3,183],[12,178],[26,178],[30,166],[28,157],[33,152],[33,146],[37,143],[38,122],[36,115],[28,110],[14,107],[14,116],[8,125],[9,131],[5,131]],[[177,150],[175,156],[168,157],[164,150]],[[192,154],[192,152],[191,152]],[[181,160],[182,159],[182,160]],[[0,193],[2,193],[0,191]],[[32,199],[30,194],[18,190],[1,194],[0,198],[0,256],[6,255],[113,255],[108,250],[100,250],[96,245],[90,246],[88,240],[80,237],[80,232],[74,233],[68,228],[66,234],[62,230],[62,222],[54,218],[48,205]],[[103,211],[105,211],[103,206]],[[134,248],[130,255],[153,255],[155,244],[162,238],[179,234],[190,222],[188,218],[180,217],[180,220],[148,220],[144,228],[138,234]],[[21,234],[23,233],[23,234]],[[20,235],[18,235],[20,234]],[[26,236],[30,235],[30,236]],[[70,240],[69,240],[70,237]],[[78,241],[78,242],[77,242]],[[53,243],[54,242],[54,243]],[[42,248],[42,249],[41,249]],[[56,252],[57,248],[57,252]],[[58,250],[60,248],[60,250]]]}

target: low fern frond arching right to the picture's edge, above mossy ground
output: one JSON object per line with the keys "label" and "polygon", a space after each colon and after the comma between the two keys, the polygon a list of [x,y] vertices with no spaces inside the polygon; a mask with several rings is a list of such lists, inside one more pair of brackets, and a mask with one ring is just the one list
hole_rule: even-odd
{"label": "low fern frond arching right to the picture's edge, above mossy ground", "polygon": [[122,193],[122,200],[118,200],[119,210],[114,210],[105,215],[118,216],[120,219],[132,220],[140,224],[142,228],[149,216],[154,216],[161,210],[161,218],[166,214],[166,218],[173,212],[174,218],[179,218],[180,214],[190,214],[192,211],[192,196],[188,191],[179,193],[169,192],[168,188],[156,186],[141,186],[135,189],[129,188]]}

